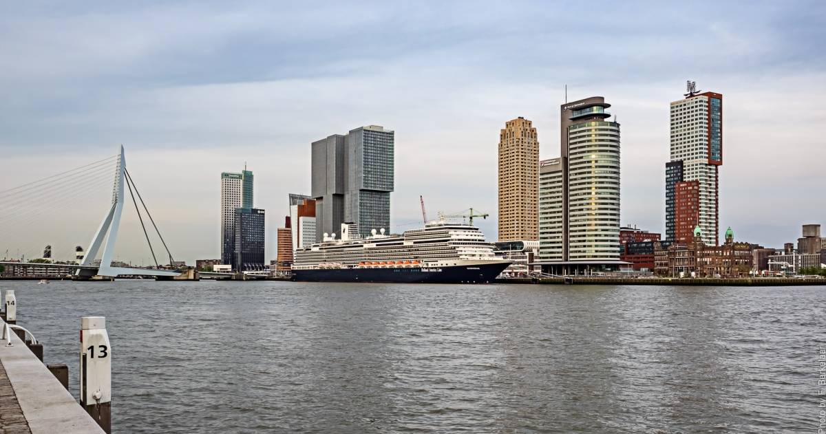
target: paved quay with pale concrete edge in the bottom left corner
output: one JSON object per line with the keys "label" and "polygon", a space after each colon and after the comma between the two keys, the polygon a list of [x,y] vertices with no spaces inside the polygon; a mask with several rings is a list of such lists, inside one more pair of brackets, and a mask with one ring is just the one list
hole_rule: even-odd
{"label": "paved quay with pale concrete edge in the bottom left corner", "polygon": [[11,337],[12,347],[0,342],[0,434],[102,434],[26,342]]}

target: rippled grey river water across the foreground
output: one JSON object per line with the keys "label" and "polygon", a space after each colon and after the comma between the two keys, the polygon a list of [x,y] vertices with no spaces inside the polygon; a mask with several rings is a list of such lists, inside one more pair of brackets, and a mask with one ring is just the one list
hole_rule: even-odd
{"label": "rippled grey river water across the foreground", "polygon": [[817,432],[826,287],[0,282],[115,432]]}

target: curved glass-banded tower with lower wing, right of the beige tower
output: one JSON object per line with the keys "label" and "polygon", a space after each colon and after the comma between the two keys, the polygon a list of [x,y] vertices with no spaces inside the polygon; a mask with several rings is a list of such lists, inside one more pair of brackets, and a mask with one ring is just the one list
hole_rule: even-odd
{"label": "curved glass-banded tower with lower wing, right of the beige tower", "polygon": [[563,104],[560,153],[539,167],[539,255],[553,271],[619,265],[619,124],[610,104]]}

